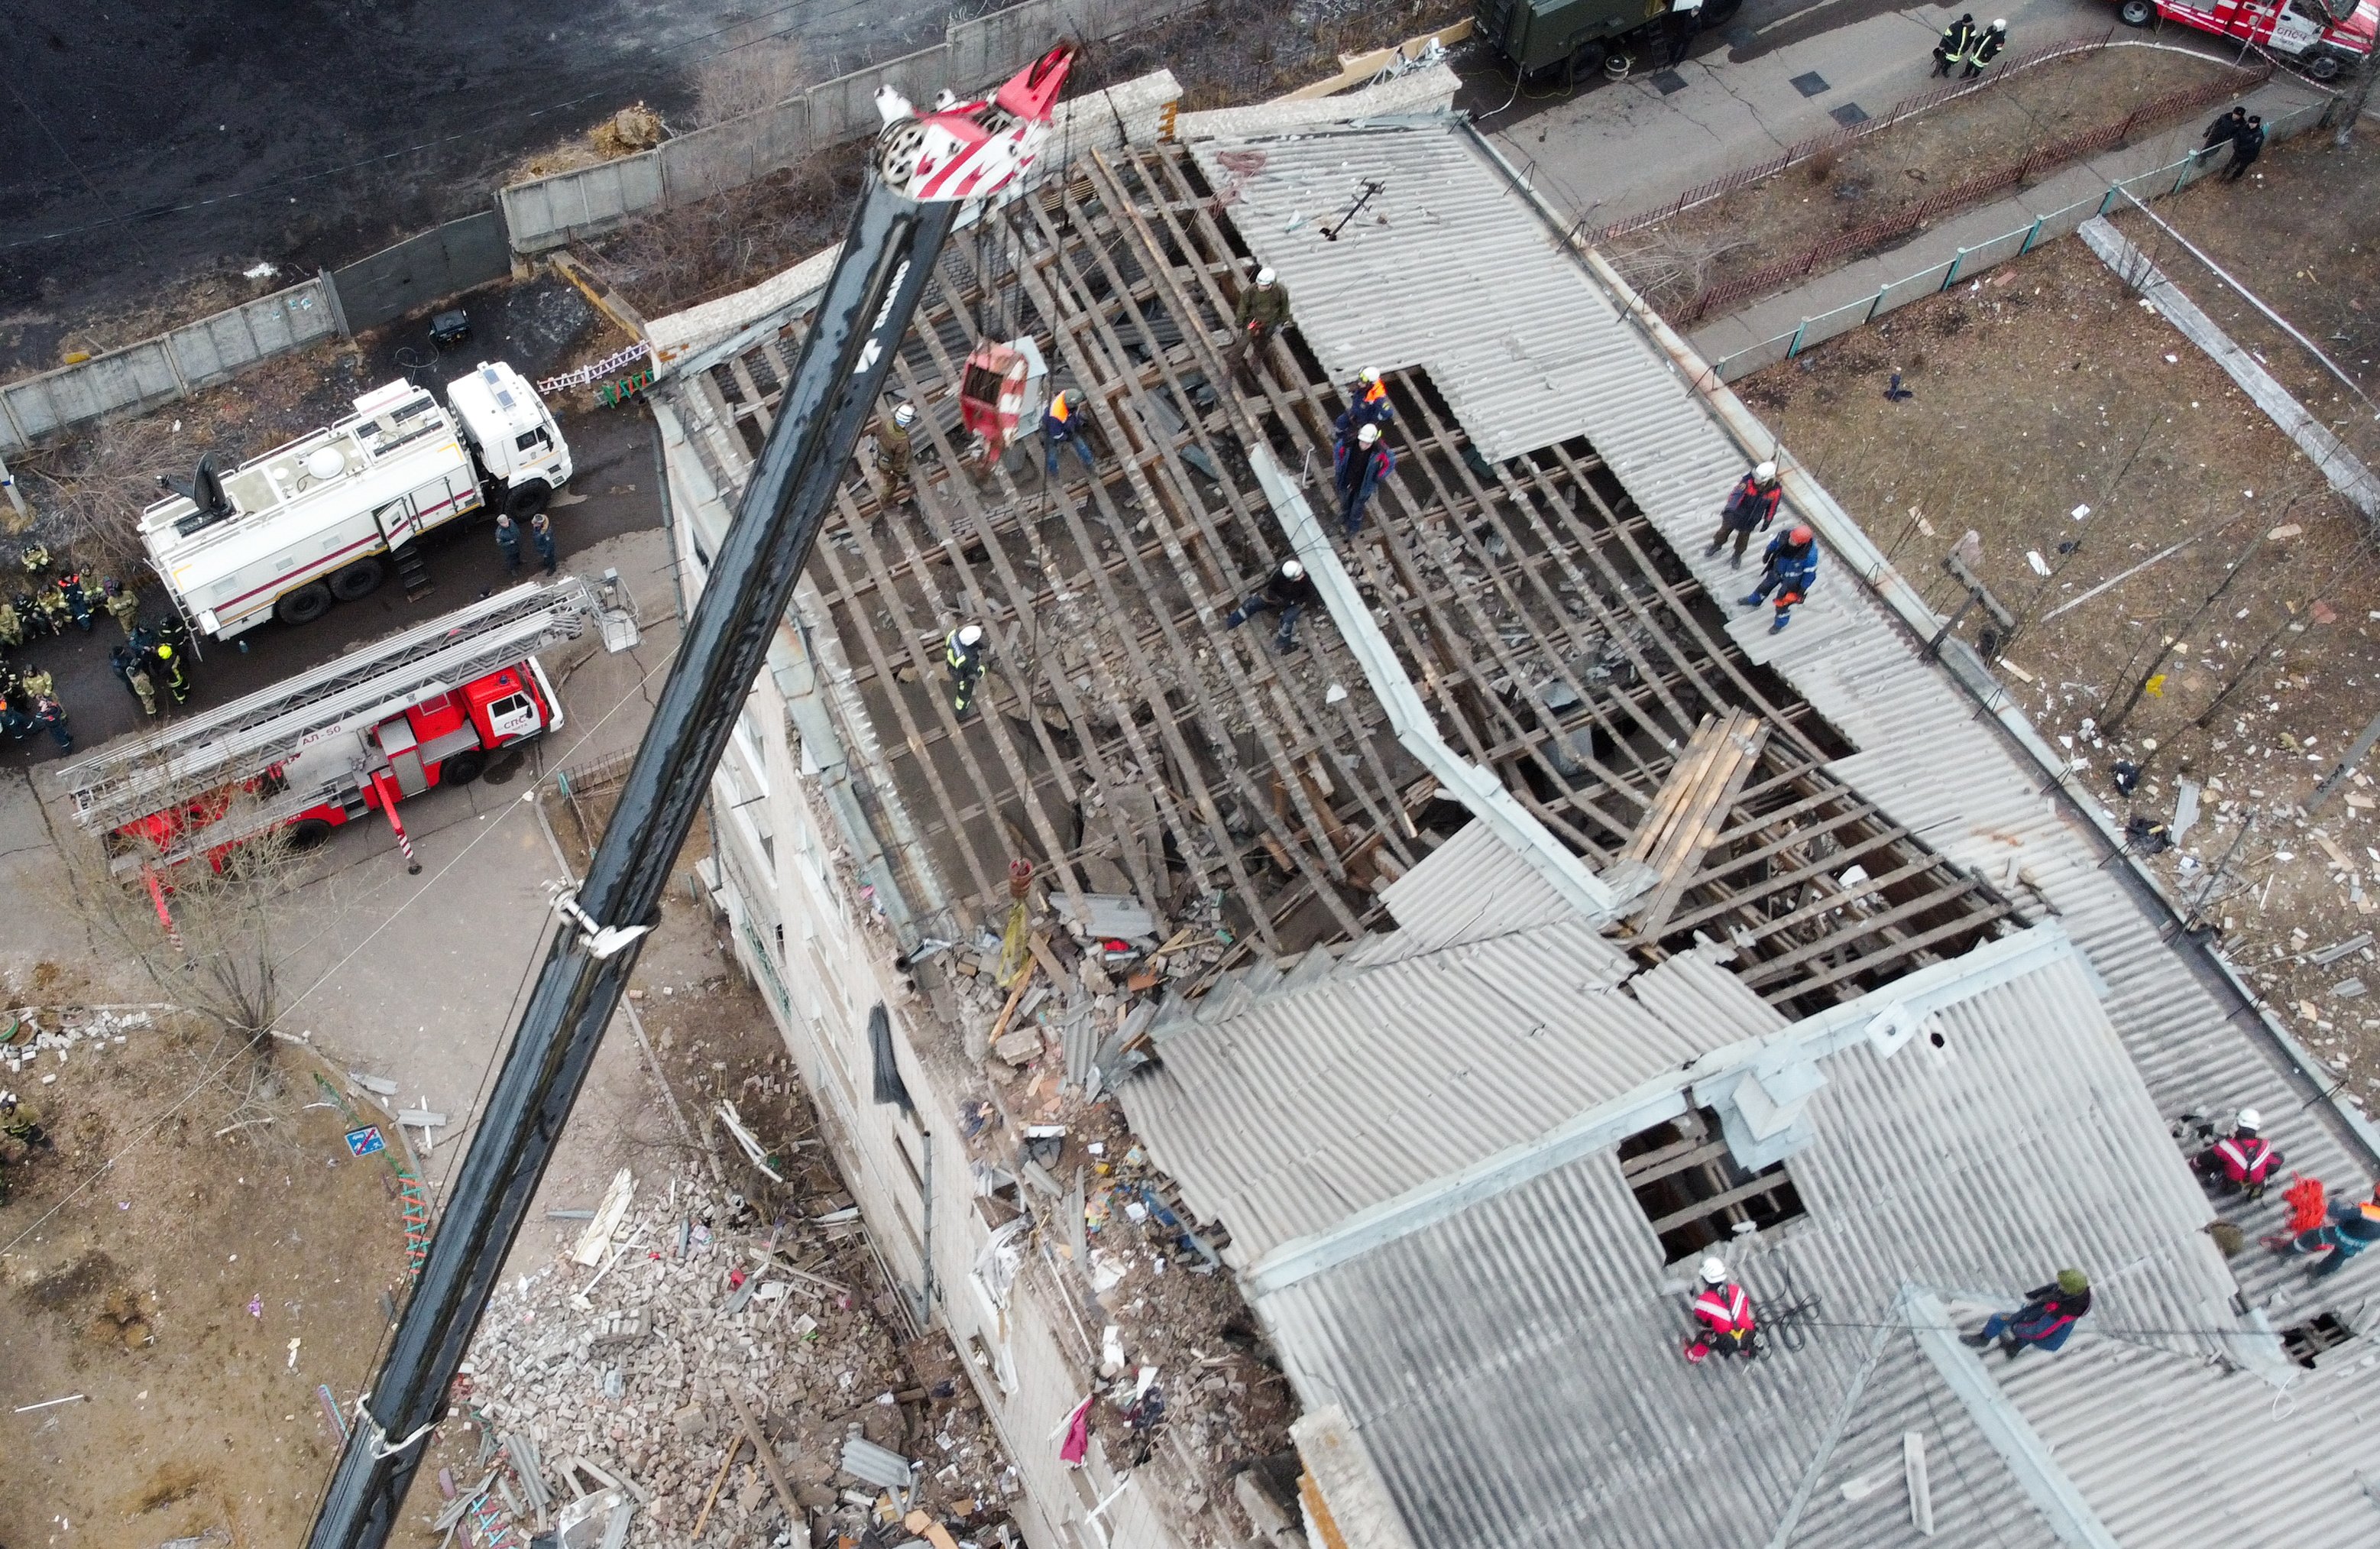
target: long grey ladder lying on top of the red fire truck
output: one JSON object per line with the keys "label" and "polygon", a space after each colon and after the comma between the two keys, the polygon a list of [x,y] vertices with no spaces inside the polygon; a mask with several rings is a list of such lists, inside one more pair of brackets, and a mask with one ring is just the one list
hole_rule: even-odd
{"label": "long grey ladder lying on top of the red fire truck", "polygon": [[[231,704],[174,721],[136,742],[67,766],[74,821],[109,833],[176,802],[250,780],[309,742],[383,721],[471,678],[602,623],[605,642],[633,642],[633,612],[616,581],[569,576],[483,597],[466,609],[395,633]],[[614,645],[628,633],[631,640]],[[174,864],[198,849],[262,833],[336,792],[288,790],[243,809],[233,830],[209,823],[162,854],[114,857],[119,873]],[[188,854],[186,854],[188,852]]]}

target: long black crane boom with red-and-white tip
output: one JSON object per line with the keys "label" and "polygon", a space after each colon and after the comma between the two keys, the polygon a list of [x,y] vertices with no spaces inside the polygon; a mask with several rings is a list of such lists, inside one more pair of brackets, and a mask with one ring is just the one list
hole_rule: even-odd
{"label": "long black crane boom with red-and-white tip", "polygon": [[778,402],[709,583],[488,1092],[447,1190],[421,1280],[359,1423],[331,1475],[309,1549],[381,1549],[421,1442],[447,1409],[471,1332],[521,1230],[595,1047],[628,985],[662,888],[702,809],[712,771],[833,507],[959,200],[997,193],[1031,164],[1073,64],[1059,45],[985,102],[926,117],[876,98],[885,128],[843,257]]}

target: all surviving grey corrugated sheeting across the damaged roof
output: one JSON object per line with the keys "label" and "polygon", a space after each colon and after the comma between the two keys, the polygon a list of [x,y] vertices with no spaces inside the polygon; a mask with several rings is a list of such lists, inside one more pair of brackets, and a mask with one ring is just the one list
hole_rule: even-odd
{"label": "all surviving grey corrugated sheeting across the damaged roof", "polygon": [[[1740,576],[1702,559],[1702,543],[1752,459],[1464,136],[1200,148],[1207,176],[1230,188],[1221,150],[1264,152],[1228,214],[1290,281],[1335,374],[1428,366],[1492,457],[1583,433],[1711,595],[1733,595]],[[1388,221],[1366,212],[1323,243],[1319,228],[1364,178],[1385,183]],[[1983,1366],[2121,1542],[2292,1544],[2309,1525],[2380,1537],[2380,1506],[2356,1480],[2380,1473],[2363,1423],[2380,1413],[2380,1356],[2325,1356],[2275,1394],[2211,1361],[2237,1340],[2163,1332],[2237,1328],[2235,1290],[2278,1328],[2318,1309],[2363,1318],[2380,1287],[2380,1254],[2318,1290],[2301,1259],[2254,1244],[2216,1259],[2199,1230],[2213,1211],[2166,1135],[2171,1116],[2261,1106],[2290,1166],[2335,1192],[2359,1187],[2361,1156],[2228,1021],[2166,945],[2166,921],[2102,871],[2092,840],[2040,795],[2040,771],[1854,578],[1821,559],[1787,633],[1766,635],[1761,614],[1730,633],[1859,747],[1837,769],[1861,795],[2033,914],[2061,916],[2092,973],[2063,964],[2004,985],[1947,1014],[1940,1049],[1918,1040],[1890,1061],[1868,1047],[1825,1061],[1818,1142],[1790,1164],[1809,1218],[1740,1266],[1771,1304],[1787,1263],[1795,1290],[1818,1297],[1806,1349],[1685,1368],[1683,1290],[1661,1285],[1645,1214],[1599,1154],[1264,1297],[1299,1394],[1347,1406],[1416,1537],[1438,1547],[1766,1544],[1795,1509],[1797,1547],[1914,1542],[1890,1478],[1906,1430],[1933,1456],[1930,1542],[2044,1544],[2054,1525],[1906,1330],[1871,1325],[1892,1323],[1904,1283],[2004,1299],[2073,1261],[2102,1287],[2094,1332],[2054,1359]],[[1428,914],[1476,904],[1442,897]],[[1609,1009],[1621,995],[1576,999]],[[1497,1033],[1507,1018],[1483,1018],[1492,1002],[1476,995],[1468,1018],[1454,1002],[1440,1014],[1459,1037],[1352,999],[1335,978],[1299,1002],[1292,1021],[1242,1026],[1257,1006],[1197,1030],[1223,1035],[1214,1045],[1169,1042],[1166,1068],[1126,1085],[1161,1166],[1216,1168],[1190,1204],[1250,1230],[1252,1254],[1537,1135],[1549,1111],[1618,1073],[1602,1045],[1595,1071],[1549,1068],[1547,1049]],[[1628,1028],[1642,1035],[1635,1018]],[[1307,1175],[1307,1156],[1330,1175]],[[1364,1187],[1345,1187],[1347,1168]],[[2278,1202],[2221,1209],[2251,1242],[2280,1216]],[[2249,1344],[2249,1359],[2271,1352]]]}

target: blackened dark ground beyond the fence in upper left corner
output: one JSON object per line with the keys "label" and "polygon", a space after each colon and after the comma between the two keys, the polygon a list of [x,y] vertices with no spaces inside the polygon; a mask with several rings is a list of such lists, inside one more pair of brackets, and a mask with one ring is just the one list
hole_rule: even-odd
{"label": "blackened dark ground beyond the fence in upper left corner", "polygon": [[819,76],[988,0],[0,0],[0,371],[209,271],[338,266],[771,36]]}

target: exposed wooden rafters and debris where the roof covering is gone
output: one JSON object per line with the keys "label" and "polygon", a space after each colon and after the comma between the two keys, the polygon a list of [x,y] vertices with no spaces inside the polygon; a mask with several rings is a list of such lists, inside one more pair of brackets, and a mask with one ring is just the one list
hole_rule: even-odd
{"label": "exposed wooden rafters and debris where the roof covering is gone", "polygon": [[[1442,126],[1395,138],[1468,155]],[[1028,859],[1069,909],[1133,895],[1159,937],[1226,899],[1238,949],[1221,973],[1380,926],[1378,888],[1464,816],[1323,609],[1297,654],[1269,650],[1271,628],[1226,628],[1288,552],[1247,450],[1328,488],[1342,407],[1338,374],[1295,340],[1261,390],[1216,390],[1209,340],[1254,266],[1233,219],[1264,181],[1240,167],[1219,186],[1180,148],[1092,155],[962,233],[897,369],[935,466],[914,507],[854,478],[819,543],[807,623],[850,661],[847,707],[873,735],[847,742],[878,750],[873,778],[909,814],[902,892],[950,904],[931,933],[1004,914],[1009,866]],[[1399,197],[1373,217],[1397,217]],[[1338,283],[1297,293],[1299,316],[1345,307]],[[957,381],[983,338],[1045,345],[1050,388],[1092,424],[1088,478],[1071,459],[1045,476],[1031,454],[962,469]],[[733,426],[695,438],[721,488],[743,485],[788,364],[771,338],[678,388]],[[1483,454],[1476,414],[1452,402],[1495,407],[1476,369],[1457,357],[1452,393],[1421,366],[1388,374],[1399,471],[1345,545],[1459,757],[1587,866],[1645,868],[1626,930],[1647,957],[1726,942],[1787,1011],[1999,930],[2006,902],[1825,769],[1849,747],[1749,659],[1576,426]],[[992,638],[988,714],[969,719],[942,669],[962,621]]]}

